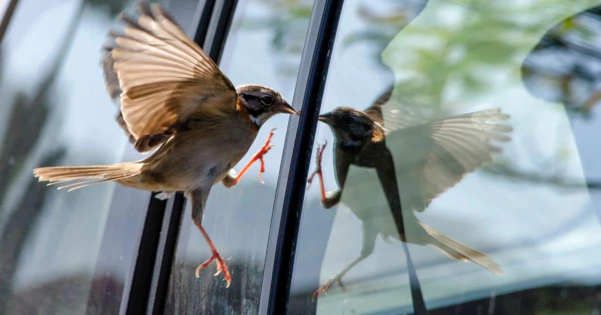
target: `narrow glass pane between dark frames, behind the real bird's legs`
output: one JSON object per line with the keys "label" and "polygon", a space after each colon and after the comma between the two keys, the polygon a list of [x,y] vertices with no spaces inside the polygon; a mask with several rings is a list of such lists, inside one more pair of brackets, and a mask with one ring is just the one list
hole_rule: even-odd
{"label": "narrow glass pane between dark frames, behind the real bird's legs", "polygon": [[[239,1],[220,65],[233,84],[267,85],[290,102],[312,7],[312,1]],[[265,155],[264,184],[257,178],[257,163],[235,187],[217,184],[211,190],[203,226],[230,269],[231,286],[225,288],[222,275],[213,277],[215,263],[195,278],[195,268],[211,252],[192,223],[188,206],[178,236],[165,313],[257,313],[288,119],[288,115],[270,118],[248,154],[234,167],[240,171],[269,131],[278,128],[272,139],[275,146]]]}

